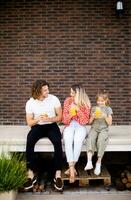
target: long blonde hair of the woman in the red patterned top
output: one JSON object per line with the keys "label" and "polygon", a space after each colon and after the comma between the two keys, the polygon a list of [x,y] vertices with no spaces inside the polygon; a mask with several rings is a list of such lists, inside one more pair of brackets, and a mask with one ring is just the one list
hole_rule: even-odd
{"label": "long blonde hair of the woman in the red patterned top", "polygon": [[91,103],[89,100],[88,95],[86,94],[85,89],[82,87],[82,85],[76,84],[72,85],[72,90],[76,92],[75,95],[75,103],[78,106],[86,106],[86,107],[91,107]]}

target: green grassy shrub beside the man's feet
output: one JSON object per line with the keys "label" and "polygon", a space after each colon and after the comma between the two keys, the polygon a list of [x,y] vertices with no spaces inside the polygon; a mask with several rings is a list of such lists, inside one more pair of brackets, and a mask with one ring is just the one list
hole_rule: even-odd
{"label": "green grassy shrub beside the man's feet", "polygon": [[26,163],[21,156],[14,154],[10,159],[0,156],[0,192],[17,190],[26,182]]}

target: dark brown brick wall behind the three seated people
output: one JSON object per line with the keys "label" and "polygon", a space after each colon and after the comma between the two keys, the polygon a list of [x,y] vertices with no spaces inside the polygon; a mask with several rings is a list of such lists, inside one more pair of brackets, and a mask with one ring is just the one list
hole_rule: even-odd
{"label": "dark brown brick wall behind the three seated people", "polygon": [[115,0],[0,1],[0,124],[25,124],[32,81],[46,79],[63,103],[82,83],[95,103],[111,97],[114,124],[131,124],[131,3]]}

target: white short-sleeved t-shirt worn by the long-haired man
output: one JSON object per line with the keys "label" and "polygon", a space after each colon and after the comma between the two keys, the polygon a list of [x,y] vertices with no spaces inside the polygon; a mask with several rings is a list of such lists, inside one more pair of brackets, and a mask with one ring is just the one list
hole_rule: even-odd
{"label": "white short-sleeved t-shirt worn by the long-haired man", "polygon": [[[33,114],[34,119],[37,119],[42,114],[47,114],[48,117],[55,117],[55,108],[61,107],[59,99],[52,95],[48,94],[48,97],[44,100],[38,100],[30,98],[26,103],[26,113]],[[50,124],[52,122],[39,122],[38,124]]]}

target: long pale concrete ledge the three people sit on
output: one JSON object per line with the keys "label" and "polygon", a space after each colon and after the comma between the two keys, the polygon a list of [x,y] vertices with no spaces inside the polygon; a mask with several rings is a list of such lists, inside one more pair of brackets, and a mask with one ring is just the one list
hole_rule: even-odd
{"label": "long pale concrete ledge the three people sit on", "polygon": [[[89,130],[90,126],[87,126]],[[64,126],[60,126],[63,132]],[[28,126],[0,126],[0,152],[25,152],[26,137],[30,130]],[[64,150],[64,144],[63,144]],[[37,152],[53,152],[54,148],[48,138],[40,139],[36,146]],[[83,144],[82,151],[86,151]],[[131,151],[131,126],[114,125],[110,127],[109,143],[106,151]]]}

